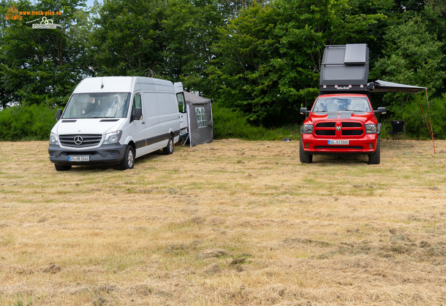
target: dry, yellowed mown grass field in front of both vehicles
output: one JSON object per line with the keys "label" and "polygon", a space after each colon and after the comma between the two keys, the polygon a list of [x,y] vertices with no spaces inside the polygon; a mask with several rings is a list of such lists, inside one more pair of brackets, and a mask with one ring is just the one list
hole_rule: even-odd
{"label": "dry, yellowed mown grass field in front of both vehicles", "polygon": [[0,305],[446,305],[446,141],[227,139],[56,172],[0,143]]}

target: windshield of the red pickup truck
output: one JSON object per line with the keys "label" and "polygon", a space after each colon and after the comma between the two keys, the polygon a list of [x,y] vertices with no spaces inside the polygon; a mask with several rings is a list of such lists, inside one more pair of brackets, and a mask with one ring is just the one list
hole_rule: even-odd
{"label": "windshield of the red pickup truck", "polygon": [[371,112],[369,100],[366,97],[319,97],[313,107],[313,112]]}

